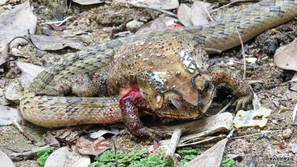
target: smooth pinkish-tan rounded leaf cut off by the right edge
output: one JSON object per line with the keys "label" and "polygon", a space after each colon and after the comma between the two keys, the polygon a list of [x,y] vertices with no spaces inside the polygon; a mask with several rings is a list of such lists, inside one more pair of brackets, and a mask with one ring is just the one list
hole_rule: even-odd
{"label": "smooth pinkish-tan rounded leaf cut off by the right edge", "polygon": [[280,69],[297,71],[297,38],[275,51],[274,64]]}

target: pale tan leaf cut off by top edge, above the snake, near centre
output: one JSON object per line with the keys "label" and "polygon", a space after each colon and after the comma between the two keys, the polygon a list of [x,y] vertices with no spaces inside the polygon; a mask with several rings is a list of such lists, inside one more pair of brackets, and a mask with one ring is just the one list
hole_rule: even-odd
{"label": "pale tan leaf cut off by top edge, above the snake, near centre", "polygon": [[151,0],[145,1],[147,5],[158,9],[171,10],[178,8],[178,0]]}

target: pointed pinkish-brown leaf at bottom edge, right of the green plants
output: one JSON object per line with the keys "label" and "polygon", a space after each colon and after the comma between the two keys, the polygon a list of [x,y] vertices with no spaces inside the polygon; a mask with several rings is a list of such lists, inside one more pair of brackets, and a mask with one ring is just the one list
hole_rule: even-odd
{"label": "pointed pinkish-brown leaf at bottom edge, right of the green plants", "polygon": [[220,166],[227,141],[227,138],[222,139],[217,144],[212,146],[210,149],[203,152],[200,156],[185,163],[183,166]]}

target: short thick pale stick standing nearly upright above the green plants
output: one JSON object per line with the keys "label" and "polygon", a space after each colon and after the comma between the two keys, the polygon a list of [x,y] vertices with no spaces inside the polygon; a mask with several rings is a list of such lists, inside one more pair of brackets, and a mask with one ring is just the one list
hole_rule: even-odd
{"label": "short thick pale stick standing nearly upright above the green plants", "polygon": [[182,127],[178,127],[174,130],[171,136],[170,144],[165,154],[166,161],[173,160],[173,155],[176,150],[176,146],[178,144],[179,138],[181,137],[181,133],[183,133],[184,130],[185,128]]}

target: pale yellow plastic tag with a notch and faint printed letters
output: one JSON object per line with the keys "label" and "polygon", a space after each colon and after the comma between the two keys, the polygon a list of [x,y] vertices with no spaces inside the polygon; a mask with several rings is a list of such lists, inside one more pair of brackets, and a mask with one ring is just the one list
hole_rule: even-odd
{"label": "pale yellow plastic tag with a notch and faint printed letters", "polygon": [[[250,111],[244,111],[239,110],[233,120],[233,126],[235,128],[241,128],[241,127],[251,127],[251,126],[260,126],[263,127],[266,125],[268,119],[265,117],[268,117],[271,113],[271,109],[259,109],[259,110],[250,110]],[[262,120],[254,120],[254,117],[261,117]]]}

